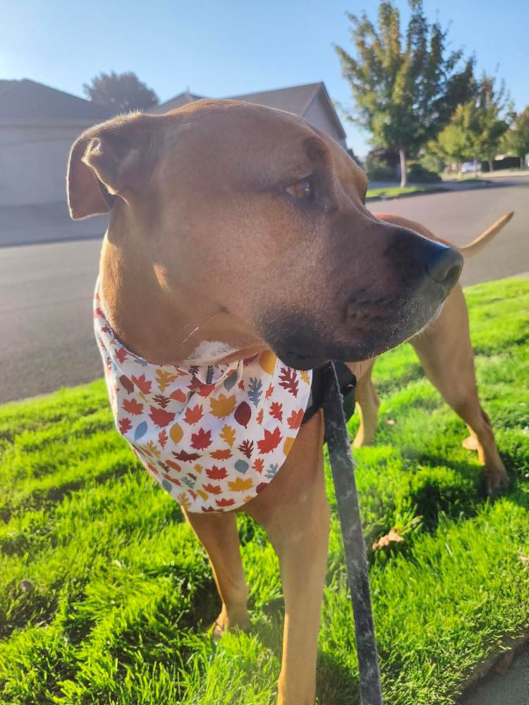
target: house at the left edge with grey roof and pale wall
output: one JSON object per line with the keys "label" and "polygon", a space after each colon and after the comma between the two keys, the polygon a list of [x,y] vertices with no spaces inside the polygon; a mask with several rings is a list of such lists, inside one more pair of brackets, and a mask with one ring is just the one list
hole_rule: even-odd
{"label": "house at the left edge with grey roof and pale wall", "polygon": [[111,112],[42,83],[0,80],[0,207],[64,202],[70,147]]}

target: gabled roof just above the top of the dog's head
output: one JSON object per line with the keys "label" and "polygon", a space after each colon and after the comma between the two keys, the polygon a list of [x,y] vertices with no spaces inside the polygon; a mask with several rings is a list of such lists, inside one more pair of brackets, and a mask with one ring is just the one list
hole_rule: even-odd
{"label": "gabled roof just above the top of the dog's head", "polygon": [[[305,117],[310,105],[314,99],[320,93],[324,96],[324,103],[327,104],[327,110],[329,112],[329,117],[334,123],[336,130],[338,130],[339,135],[345,139],[346,133],[343,130],[343,126],[340,122],[339,117],[336,115],[332,100],[329,98],[327,93],[327,88],[324,82],[320,81],[318,83],[305,83],[300,86],[291,86],[288,88],[275,88],[274,90],[260,91],[257,93],[245,93],[241,95],[227,96],[233,100],[242,100],[246,103],[257,103],[260,105],[266,105],[269,108],[276,108],[278,110],[286,110],[288,113],[293,113],[299,115],[300,117]],[[165,103],[154,106],[149,109],[150,113],[166,113],[168,110],[173,110],[175,108],[180,108],[183,105],[191,103],[195,100],[200,100],[205,96],[197,95],[185,91],[179,93],[174,98],[166,101]]]}

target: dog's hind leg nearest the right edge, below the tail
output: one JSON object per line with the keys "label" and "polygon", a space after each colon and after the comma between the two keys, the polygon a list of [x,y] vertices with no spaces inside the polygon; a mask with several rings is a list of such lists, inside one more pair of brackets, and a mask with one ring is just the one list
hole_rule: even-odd
{"label": "dog's hind leg nearest the right edge, below the tail", "polygon": [[482,410],[475,382],[474,353],[468,329],[468,311],[460,286],[452,290],[439,318],[410,343],[425,373],[442,397],[466,423],[472,441],[463,445],[478,450],[485,466],[487,489],[507,484],[489,417]]}

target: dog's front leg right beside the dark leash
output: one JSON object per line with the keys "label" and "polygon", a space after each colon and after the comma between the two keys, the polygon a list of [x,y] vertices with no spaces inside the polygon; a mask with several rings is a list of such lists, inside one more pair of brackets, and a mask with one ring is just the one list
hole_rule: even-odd
{"label": "dog's front leg right beside the dark leash", "polygon": [[329,540],[322,417],[310,419],[281,470],[245,510],[267,530],[285,599],[278,705],[313,705],[317,637]]}

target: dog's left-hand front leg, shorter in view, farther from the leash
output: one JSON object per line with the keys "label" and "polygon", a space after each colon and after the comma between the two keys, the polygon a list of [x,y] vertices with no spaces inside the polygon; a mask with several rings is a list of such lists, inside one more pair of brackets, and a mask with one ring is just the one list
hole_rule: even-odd
{"label": "dog's left-hand front leg, shorter in view, farther from the leash", "polygon": [[241,561],[236,513],[184,513],[207,551],[222,601],[221,613],[213,628],[214,639],[236,627],[248,629],[248,585]]}

